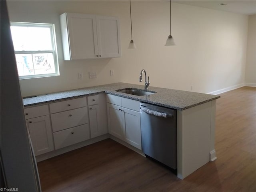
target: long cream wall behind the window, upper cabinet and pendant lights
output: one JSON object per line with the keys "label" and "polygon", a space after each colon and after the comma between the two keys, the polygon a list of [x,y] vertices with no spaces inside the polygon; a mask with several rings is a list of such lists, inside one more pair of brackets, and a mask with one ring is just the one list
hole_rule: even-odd
{"label": "long cream wall behind the window, upper cabinet and pendant lights", "polygon": [[[54,23],[60,76],[20,80],[23,96],[112,82],[138,82],[144,68],[151,86],[213,92],[244,84],[248,16],[172,3],[172,36],[177,46],[164,46],[169,35],[168,1],[8,1],[11,21]],[[122,57],[64,61],[59,15],[63,12],[118,16]],[[110,76],[110,70],[115,76]],[[78,80],[78,72],[84,79]],[[89,79],[96,71],[98,78]],[[143,77],[144,79],[144,77]]]}

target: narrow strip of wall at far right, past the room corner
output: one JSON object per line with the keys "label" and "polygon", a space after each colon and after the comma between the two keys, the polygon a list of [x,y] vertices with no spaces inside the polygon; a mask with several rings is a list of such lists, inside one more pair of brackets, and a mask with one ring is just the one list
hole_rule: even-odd
{"label": "narrow strip of wall at far right, past the room corner", "polygon": [[249,16],[246,54],[246,86],[256,87],[256,15]]}

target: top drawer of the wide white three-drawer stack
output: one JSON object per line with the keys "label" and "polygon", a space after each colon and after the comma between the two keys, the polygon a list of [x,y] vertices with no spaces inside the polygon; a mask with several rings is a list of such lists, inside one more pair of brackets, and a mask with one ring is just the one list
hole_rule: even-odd
{"label": "top drawer of the wide white three-drawer stack", "polygon": [[87,100],[86,100],[86,97],[70,99],[70,100],[60,101],[56,103],[51,103],[49,106],[50,106],[51,113],[57,113],[57,112],[66,111],[70,109],[85,107],[87,106]]}

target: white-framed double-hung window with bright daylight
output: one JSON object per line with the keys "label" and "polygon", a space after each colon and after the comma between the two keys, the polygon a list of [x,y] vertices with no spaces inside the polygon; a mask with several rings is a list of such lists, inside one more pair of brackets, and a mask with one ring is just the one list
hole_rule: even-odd
{"label": "white-framed double-hung window with bright daylight", "polygon": [[54,24],[11,22],[20,79],[59,75]]}

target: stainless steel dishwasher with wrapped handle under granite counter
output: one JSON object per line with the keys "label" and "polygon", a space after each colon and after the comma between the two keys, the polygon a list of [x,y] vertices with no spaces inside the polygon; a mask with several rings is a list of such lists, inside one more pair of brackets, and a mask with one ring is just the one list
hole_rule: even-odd
{"label": "stainless steel dishwasher with wrapped handle under granite counter", "polygon": [[176,110],[140,103],[140,122],[143,153],[176,170]]}

